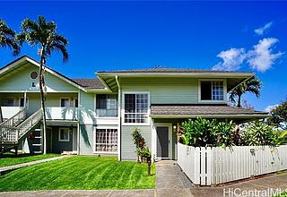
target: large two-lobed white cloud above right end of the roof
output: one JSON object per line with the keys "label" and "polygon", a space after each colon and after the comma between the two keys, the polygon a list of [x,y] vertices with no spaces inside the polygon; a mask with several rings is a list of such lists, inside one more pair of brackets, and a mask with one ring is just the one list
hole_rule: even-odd
{"label": "large two-lobed white cloud above right end of the roof", "polygon": [[274,44],[278,41],[274,38],[260,39],[248,52],[243,47],[222,51],[217,55],[222,61],[213,65],[213,70],[238,71],[242,64],[247,63],[253,70],[265,72],[276,59],[283,56],[282,52],[273,53]]}

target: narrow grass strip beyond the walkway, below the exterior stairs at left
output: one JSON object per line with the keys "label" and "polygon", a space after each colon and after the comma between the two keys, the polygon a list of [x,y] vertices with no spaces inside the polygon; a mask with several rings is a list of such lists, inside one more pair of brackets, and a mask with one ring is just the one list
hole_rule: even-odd
{"label": "narrow grass strip beyond the walkway, below the exterior stairs at left", "polygon": [[57,154],[46,154],[46,155],[29,155],[29,154],[20,154],[18,156],[14,156],[12,154],[4,154],[0,156],[0,167],[11,166],[15,164],[27,163],[30,161],[35,161],[44,158],[54,158],[59,155]]}

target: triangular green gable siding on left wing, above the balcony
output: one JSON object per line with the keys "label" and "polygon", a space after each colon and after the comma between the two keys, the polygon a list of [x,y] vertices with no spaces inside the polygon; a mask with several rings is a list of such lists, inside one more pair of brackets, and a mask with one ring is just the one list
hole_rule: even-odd
{"label": "triangular green gable siding on left wing, above the balcony", "polygon": [[[6,78],[0,79],[0,90],[31,90],[31,83],[39,84],[39,80],[30,79],[30,73],[32,71],[39,71],[39,67],[34,64],[23,65],[22,68],[13,71],[13,73],[7,73]],[[59,79],[58,77],[46,72],[45,81],[48,92],[55,91],[77,91],[78,89],[66,81]]]}

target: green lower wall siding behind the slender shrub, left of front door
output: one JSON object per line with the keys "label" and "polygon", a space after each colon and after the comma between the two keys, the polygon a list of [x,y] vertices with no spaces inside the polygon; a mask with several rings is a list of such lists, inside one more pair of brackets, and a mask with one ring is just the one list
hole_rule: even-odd
{"label": "green lower wall siding behind the slender shrub, left of front door", "polygon": [[121,158],[124,160],[136,159],[135,144],[132,131],[137,127],[143,135],[146,145],[152,149],[152,127],[151,126],[122,126],[121,133]]}

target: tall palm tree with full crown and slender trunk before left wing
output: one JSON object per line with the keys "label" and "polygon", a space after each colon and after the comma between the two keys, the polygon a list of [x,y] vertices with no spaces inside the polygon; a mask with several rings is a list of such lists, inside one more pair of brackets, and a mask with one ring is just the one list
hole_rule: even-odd
{"label": "tall palm tree with full crown and slender trunk before left wing", "polygon": [[40,47],[40,66],[39,66],[39,91],[41,110],[43,116],[44,133],[44,154],[46,153],[46,112],[45,94],[46,86],[44,79],[45,64],[48,56],[53,51],[58,51],[63,56],[63,62],[67,62],[69,55],[66,49],[68,44],[64,36],[57,34],[57,25],[54,21],[46,21],[43,16],[39,16],[38,21],[25,19],[22,21],[22,32],[16,35],[16,39],[22,43],[27,42],[31,47]]}

